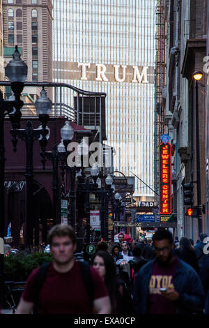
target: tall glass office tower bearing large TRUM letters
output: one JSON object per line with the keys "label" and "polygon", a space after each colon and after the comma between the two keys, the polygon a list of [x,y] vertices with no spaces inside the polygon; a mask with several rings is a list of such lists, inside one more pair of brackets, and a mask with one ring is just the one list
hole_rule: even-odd
{"label": "tall glass office tower bearing large TRUM letters", "polygon": [[[54,82],[106,92],[114,167],[153,188],[155,0],[54,0]],[[67,95],[66,95],[67,96]],[[135,179],[135,196],[153,196]]]}

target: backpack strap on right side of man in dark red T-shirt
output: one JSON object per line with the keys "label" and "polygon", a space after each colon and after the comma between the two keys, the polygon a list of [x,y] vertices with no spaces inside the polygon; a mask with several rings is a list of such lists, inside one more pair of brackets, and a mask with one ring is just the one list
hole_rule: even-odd
{"label": "backpack strap on right side of man in dark red T-shirt", "polygon": [[91,275],[91,269],[88,262],[79,262],[79,266],[82,274],[82,281],[84,283],[84,287],[86,289],[87,295],[90,300],[90,313],[93,311],[93,297],[94,297],[94,285],[93,278]]}

